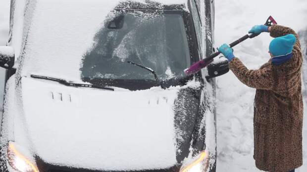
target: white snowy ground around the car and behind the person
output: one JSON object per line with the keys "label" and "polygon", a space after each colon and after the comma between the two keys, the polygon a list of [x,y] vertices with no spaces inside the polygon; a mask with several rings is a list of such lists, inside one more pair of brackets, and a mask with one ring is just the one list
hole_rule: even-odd
{"label": "white snowy ground around the car and behind the person", "polygon": [[[0,0],[0,45],[5,45],[8,39],[9,1]],[[215,46],[245,35],[253,25],[263,24],[269,15],[296,31],[307,29],[307,0],[215,0],[215,12]],[[257,69],[269,59],[271,39],[263,33],[236,46],[234,53],[250,69]],[[1,104],[3,83],[4,70],[0,69]],[[217,84],[217,172],[259,172],[253,159],[255,89],[241,84],[232,72],[219,77]],[[306,120],[303,134],[305,164],[297,172],[307,171]]]}

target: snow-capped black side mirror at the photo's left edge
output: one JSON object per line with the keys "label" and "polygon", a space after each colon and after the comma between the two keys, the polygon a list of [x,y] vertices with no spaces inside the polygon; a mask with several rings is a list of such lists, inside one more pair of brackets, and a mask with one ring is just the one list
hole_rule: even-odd
{"label": "snow-capped black side mirror at the photo's left edge", "polygon": [[15,52],[11,46],[0,46],[0,67],[10,69],[14,66]]}

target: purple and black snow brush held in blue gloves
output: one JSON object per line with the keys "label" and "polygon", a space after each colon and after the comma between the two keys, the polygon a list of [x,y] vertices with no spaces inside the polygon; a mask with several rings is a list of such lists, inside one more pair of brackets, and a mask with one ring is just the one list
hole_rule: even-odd
{"label": "purple and black snow brush held in blue gloves", "polygon": [[[265,22],[265,26],[272,26],[272,24],[277,24],[277,22],[274,20],[274,18],[272,16],[269,16],[268,19]],[[244,37],[240,38],[239,40],[230,43],[229,46],[230,47],[234,47],[237,44],[247,40],[248,38],[252,39],[256,36],[258,36],[259,34],[247,34]],[[211,62],[213,62],[213,58],[218,56],[220,54],[219,51],[215,52],[214,54],[211,54],[209,57],[200,60],[196,63],[194,63],[190,68],[184,70],[186,75],[192,75],[197,73],[198,71],[200,71],[202,68],[205,68],[208,64],[210,64]]]}

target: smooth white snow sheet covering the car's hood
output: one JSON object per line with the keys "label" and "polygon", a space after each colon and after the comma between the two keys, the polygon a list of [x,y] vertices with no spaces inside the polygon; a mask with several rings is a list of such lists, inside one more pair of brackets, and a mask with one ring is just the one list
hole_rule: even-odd
{"label": "smooth white snow sheet covering the car's hood", "polygon": [[25,124],[46,163],[94,170],[172,167],[177,91],[108,91],[24,77]]}

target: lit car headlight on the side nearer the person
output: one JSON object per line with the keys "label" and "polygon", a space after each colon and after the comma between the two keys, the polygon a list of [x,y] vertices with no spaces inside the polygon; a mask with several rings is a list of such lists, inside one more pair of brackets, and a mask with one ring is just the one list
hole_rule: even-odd
{"label": "lit car headlight on the side nearer the person", "polygon": [[206,172],[209,167],[209,153],[201,152],[194,161],[187,166],[183,166],[180,172]]}

